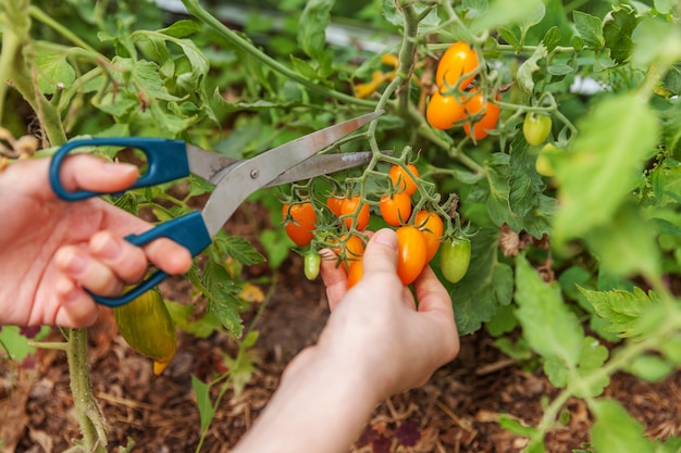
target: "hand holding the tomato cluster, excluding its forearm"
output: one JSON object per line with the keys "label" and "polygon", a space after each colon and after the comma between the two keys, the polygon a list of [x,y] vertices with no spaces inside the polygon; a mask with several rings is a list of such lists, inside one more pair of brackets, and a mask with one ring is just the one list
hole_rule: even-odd
{"label": "hand holding the tomato cluster, excluding its forearm", "polygon": [[322,261],[321,274],[332,314],[318,345],[304,355],[336,355],[340,363],[366,373],[376,402],[422,386],[458,354],[448,292],[426,266],[413,284],[414,300],[397,276],[394,231],[373,235],[363,256],[363,276],[351,290],[334,260]]}

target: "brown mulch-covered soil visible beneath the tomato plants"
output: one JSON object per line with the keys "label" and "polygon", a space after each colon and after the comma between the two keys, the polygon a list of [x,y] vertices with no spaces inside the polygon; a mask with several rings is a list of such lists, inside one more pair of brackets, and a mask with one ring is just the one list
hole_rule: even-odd
{"label": "brown mulch-covered soil visible beneath the tomato plants", "polygon": [[[251,206],[252,207],[252,206]],[[249,207],[249,209],[251,209]],[[252,212],[246,217],[253,218]],[[242,215],[244,215],[242,213]],[[253,232],[239,216],[230,229],[248,239]],[[276,290],[262,310],[255,330],[256,367],[240,393],[225,392],[203,441],[202,452],[227,452],[258,417],[277,386],[287,362],[312,344],[329,315],[323,286],[301,278],[301,262],[292,253],[276,275]],[[246,277],[268,273],[246,269]],[[268,287],[262,287],[268,291]],[[163,286],[164,293],[187,301],[182,279]],[[244,314],[248,328],[260,306]],[[55,331],[53,338],[58,340]],[[504,356],[484,332],[461,339],[459,356],[439,369],[421,389],[398,394],[376,407],[352,452],[520,452],[524,438],[502,429],[499,414],[528,424],[542,416],[542,401],[556,390],[540,370]],[[191,376],[211,381],[227,368],[235,340],[224,335],[196,339],[179,334],[178,352],[161,377],[152,380],[151,363],[117,335],[110,312],[102,310],[90,329],[91,385],[109,424],[109,451],[134,440],[134,451],[191,452],[200,438],[200,418]],[[3,452],[61,452],[79,437],[64,354],[41,351],[36,367],[22,369],[0,362],[0,439]],[[663,382],[644,383],[629,375],[614,376],[606,394],[622,401],[651,437],[678,435],[681,420],[681,374]],[[213,386],[213,399],[221,386]],[[566,425],[547,439],[548,452],[570,452],[589,442],[591,416],[585,404],[571,400]],[[569,415],[569,416],[568,416]]]}

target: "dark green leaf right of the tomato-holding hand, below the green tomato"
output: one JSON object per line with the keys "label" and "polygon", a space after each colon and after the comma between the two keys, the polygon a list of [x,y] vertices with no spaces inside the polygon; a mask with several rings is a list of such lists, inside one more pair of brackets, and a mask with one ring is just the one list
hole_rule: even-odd
{"label": "dark green leaf right of the tomato-holding hand, below the green tomato", "polygon": [[[478,330],[494,316],[499,305],[511,301],[511,268],[498,262],[498,230],[481,229],[471,237],[471,263],[458,284],[450,286],[459,334]],[[438,262],[438,260],[434,260]]]}

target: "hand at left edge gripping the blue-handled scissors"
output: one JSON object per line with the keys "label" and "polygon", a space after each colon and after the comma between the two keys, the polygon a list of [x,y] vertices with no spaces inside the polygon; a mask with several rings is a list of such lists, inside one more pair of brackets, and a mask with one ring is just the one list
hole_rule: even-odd
{"label": "hand at left edge gripping the blue-handled scissors", "polygon": [[[123,239],[151,225],[97,198],[65,202],[48,183],[48,159],[20,161],[0,173],[0,324],[85,327],[97,305],[83,289],[111,297],[140,280],[148,262],[169,274],[191,266],[191,255],[170,239],[138,248]],[[69,158],[69,191],[117,191],[137,168],[91,155]]]}

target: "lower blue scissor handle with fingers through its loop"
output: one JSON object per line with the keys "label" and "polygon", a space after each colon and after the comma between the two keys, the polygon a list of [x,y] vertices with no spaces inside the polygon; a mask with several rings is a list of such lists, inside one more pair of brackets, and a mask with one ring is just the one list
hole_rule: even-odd
{"label": "lower blue scissor handle with fingers through its loop", "polygon": [[[125,239],[134,246],[144,246],[158,238],[170,238],[175,242],[186,247],[191,256],[198,255],[203,249],[210,246],[211,237],[206,229],[201,213],[191,212],[182,217],[165,222],[141,235],[128,235]],[[132,290],[116,298],[104,298],[91,292],[89,294],[97,303],[107,306],[120,306],[132,302],[139,295],[149,291],[168,277],[163,270],[156,270],[150,277],[135,286]]]}

